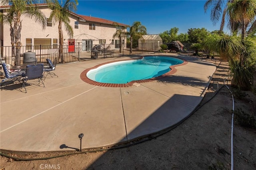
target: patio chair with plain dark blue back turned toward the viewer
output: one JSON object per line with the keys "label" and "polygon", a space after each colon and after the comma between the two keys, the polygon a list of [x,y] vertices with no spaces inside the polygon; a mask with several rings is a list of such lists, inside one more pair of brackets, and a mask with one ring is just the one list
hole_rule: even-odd
{"label": "patio chair with plain dark blue back turned toward the viewer", "polygon": [[26,92],[27,92],[26,86],[30,85],[30,84],[27,83],[28,80],[38,79],[38,86],[40,86],[40,81],[44,85],[44,82],[42,80],[43,68],[44,68],[44,64],[27,65],[27,67],[26,67],[26,70],[27,70],[26,71],[26,76],[22,78],[22,81],[23,81],[22,87],[25,88]]}

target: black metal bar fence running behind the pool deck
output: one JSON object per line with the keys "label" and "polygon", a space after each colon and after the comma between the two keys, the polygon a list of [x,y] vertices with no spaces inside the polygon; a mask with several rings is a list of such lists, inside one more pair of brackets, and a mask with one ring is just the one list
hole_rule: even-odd
{"label": "black metal bar fence running behind the pool deck", "polygon": [[[121,49],[120,49],[121,46]],[[93,59],[104,59],[110,57],[121,57],[125,55],[135,55],[141,53],[155,52],[160,50],[160,44],[141,43],[132,45],[132,53],[130,44],[98,44],[98,45],[51,45],[51,46],[1,46],[0,62],[17,65],[24,61],[23,55],[28,51],[35,53],[38,63],[46,63],[46,59],[54,61],[56,58],[58,64],[73,63],[77,61],[87,61]],[[18,52],[17,52],[18,51]],[[17,59],[17,57],[20,57]]]}

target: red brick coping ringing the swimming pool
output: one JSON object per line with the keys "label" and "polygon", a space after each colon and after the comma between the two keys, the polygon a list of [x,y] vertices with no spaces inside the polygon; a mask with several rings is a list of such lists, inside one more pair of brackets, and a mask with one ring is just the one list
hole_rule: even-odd
{"label": "red brick coping ringing the swimming pool", "polygon": [[[150,56],[144,56],[144,57],[150,57]],[[164,56],[164,57],[172,57],[172,56]],[[140,59],[142,59],[143,57],[140,57]],[[181,59],[179,57],[174,57],[174,58],[177,58],[177,59]],[[136,60],[136,59],[124,59],[124,60],[118,60],[118,61],[129,61],[129,60]],[[91,85],[94,85],[94,86],[102,86],[102,87],[130,87],[132,86],[134,83],[145,83],[145,82],[151,82],[151,81],[154,81],[154,80],[160,80],[166,76],[170,76],[172,74],[174,74],[177,69],[175,68],[176,66],[182,66],[182,65],[185,65],[188,63],[188,61],[184,60],[184,59],[181,59],[182,61],[184,61],[182,64],[177,64],[177,65],[173,65],[173,66],[170,66],[170,71],[169,72],[166,72],[165,74],[162,74],[161,76],[158,76],[158,77],[154,77],[154,78],[149,78],[149,79],[146,79],[146,80],[133,80],[131,82],[128,82],[128,83],[124,83],[124,84],[114,84],[114,83],[100,83],[100,82],[96,82],[94,80],[91,80],[90,78],[88,78],[86,76],[87,72],[94,69],[94,68],[98,68],[99,66],[102,66],[102,65],[105,65],[105,64],[109,64],[109,63],[115,63],[115,62],[118,62],[118,61],[110,61],[110,62],[107,62],[107,63],[102,63],[102,64],[98,64],[94,67],[91,67],[91,68],[86,68],[84,71],[81,72],[80,74],[80,78],[81,80],[83,80],[84,82],[88,83],[88,84],[91,84]]]}

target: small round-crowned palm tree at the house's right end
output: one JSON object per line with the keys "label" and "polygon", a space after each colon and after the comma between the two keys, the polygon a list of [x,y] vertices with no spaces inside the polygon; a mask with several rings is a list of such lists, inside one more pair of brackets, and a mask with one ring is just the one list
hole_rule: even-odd
{"label": "small round-crowned palm tree at the house's right end", "polygon": [[127,33],[131,38],[130,53],[132,53],[132,42],[134,39],[143,39],[143,35],[147,34],[147,29],[144,25],[141,25],[140,21],[135,21],[130,27],[130,31]]}

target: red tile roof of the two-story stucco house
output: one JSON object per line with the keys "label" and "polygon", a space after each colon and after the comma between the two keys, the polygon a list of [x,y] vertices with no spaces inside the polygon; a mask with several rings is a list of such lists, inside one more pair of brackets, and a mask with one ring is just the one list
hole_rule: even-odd
{"label": "red tile roof of the two-story stucco house", "polygon": [[[47,4],[34,4],[35,6],[47,6]],[[0,9],[6,9],[6,8],[10,8],[10,6],[0,6]],[[74,12],[70,12],[70,14],[77,16],[78,18],[85,20],[85,21],[91,21],[91,22],[97,22],[97,23],[106,23],[106,24],[111,24],[114,25],[115,23],[120,25],[120,26],[124,26],[124,27],[128,27],[129,25],[123,24],[123,23],[118,23],[115,21],[110,21],[110,20],[106,20],[103,18],[96,18],[96,17],[92,17],[92,16],[84,16],[84,15],[79,15],[76,14]]]}

